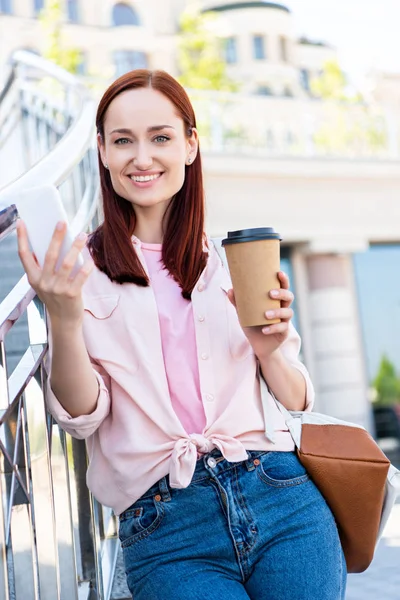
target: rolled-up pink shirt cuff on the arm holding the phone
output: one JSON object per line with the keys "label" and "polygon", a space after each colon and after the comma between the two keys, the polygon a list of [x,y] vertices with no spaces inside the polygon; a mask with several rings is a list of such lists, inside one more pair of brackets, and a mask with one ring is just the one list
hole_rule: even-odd
{"label": "rolled-up pink shirt cuff on the arm holding the phone", "polygon": [[91,436],[96,429],[98,429],[107,415],[110,413],[111,408],[111,385],[110,377],[101,365],[95,363],[90,359],[92,363],[93,372],[96,376],[99,385],[99,392],[97,396],[97,405],[95,410],[90,415],[81,415],[79,417],[72,417],[65,408],[60,404],[50,384],[50,372],[51,372],[51,332],[49,329],[48,334],[49,350],[45,360],[45,369],[47,372],[47,385],[46,385],[46,406],[49,413],[54,417],[57,423],[64,431],[72,435],[73,437],[84,440]]}

